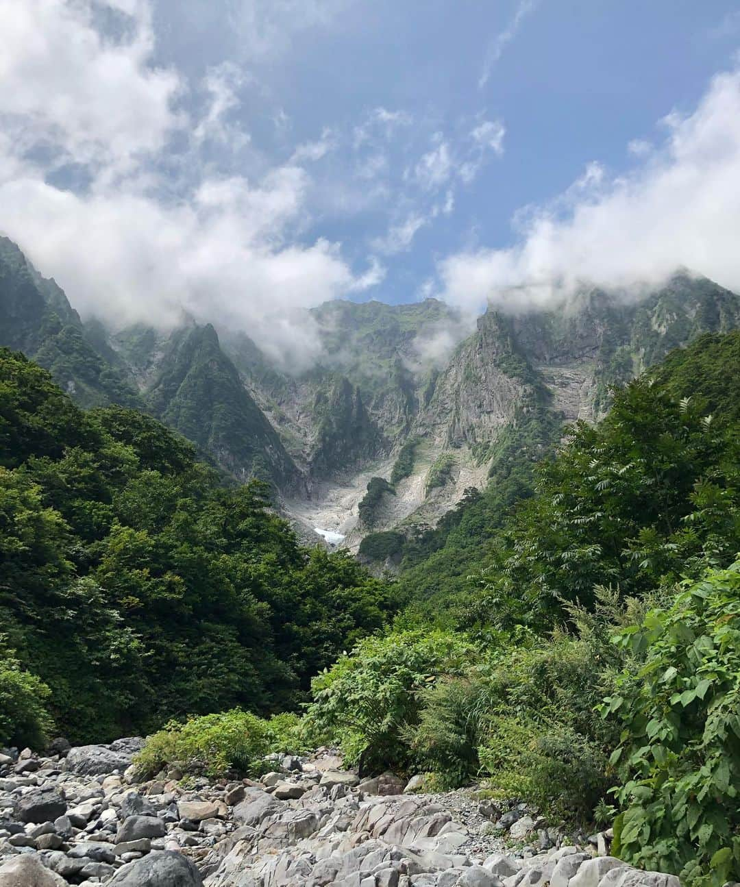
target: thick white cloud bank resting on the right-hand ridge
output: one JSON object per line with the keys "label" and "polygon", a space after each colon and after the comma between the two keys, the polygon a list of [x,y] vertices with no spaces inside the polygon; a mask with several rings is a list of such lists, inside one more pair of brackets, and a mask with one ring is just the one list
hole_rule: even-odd
{"label": "thick white cloud bank resting on the right-hand ridge", "polygon": [[716,76],[696,110],[642,167],[609,178],[599,164],[552,206],[531,211],[516,246],[440,263],[441,291],[475,310],[551,303],[583,282],[655,284],[680,266],[740,291],[740,72]]}

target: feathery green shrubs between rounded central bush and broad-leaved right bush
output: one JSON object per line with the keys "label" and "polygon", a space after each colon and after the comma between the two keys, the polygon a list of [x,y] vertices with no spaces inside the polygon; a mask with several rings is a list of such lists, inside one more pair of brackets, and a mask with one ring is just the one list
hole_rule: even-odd
{"label": "feathery green shrubs between rounded central bush and broad-leaved right bush", "polygon": [[448,784],[484,775],[500,797],[587,822],[610,786],[618,741],[616,726],[594,713],[627,655],[610,633],[639,613],[603,590],[595,615],[571,612],[576,632],[489,634],[481,663],[421,693],[418,726],[407,732],[414,752]]}

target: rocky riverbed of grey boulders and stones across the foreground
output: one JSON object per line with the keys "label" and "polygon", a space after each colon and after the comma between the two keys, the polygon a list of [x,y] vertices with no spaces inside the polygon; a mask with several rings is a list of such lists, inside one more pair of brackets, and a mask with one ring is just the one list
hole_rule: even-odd
{"label": "rocky riverbed of grey boulders and stones across the foreground", "polygon": [[[360,782],[331,751],[260,781],[138,781],[137,738],[0,753],[0,887],[679,887],[525,805]],[[420,790],[421,789],[421,790]]]}

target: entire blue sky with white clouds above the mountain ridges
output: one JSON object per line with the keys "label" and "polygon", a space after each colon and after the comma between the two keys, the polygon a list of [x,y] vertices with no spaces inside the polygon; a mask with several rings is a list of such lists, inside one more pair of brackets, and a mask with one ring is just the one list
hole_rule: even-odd
{"label": "entire blue sky with white clouds above the mountain ridges", "polygon": [[0,12],[0,229],[86,314],[216,315],[282,353],[327,298],[475,311],[677,263],[740,286],[736,3]]}

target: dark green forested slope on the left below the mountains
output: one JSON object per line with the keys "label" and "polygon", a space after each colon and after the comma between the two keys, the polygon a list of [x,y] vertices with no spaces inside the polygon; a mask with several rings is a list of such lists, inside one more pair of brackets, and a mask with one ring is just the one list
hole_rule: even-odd
{"label": "dark green forested slope on the left below the mountains", "polygon": [[224,489],[159,422],[82,412],[0,350],[0,624],[70,740],[293,708],[392,608],[346,553],[300,548],[264,484]]}

